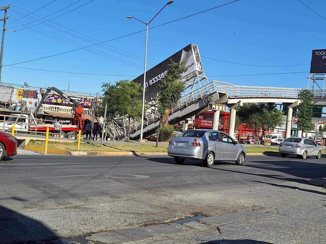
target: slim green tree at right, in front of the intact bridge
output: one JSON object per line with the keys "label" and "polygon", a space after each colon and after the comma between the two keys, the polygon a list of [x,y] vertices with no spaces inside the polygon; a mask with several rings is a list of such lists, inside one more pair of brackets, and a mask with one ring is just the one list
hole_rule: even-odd
{"label": "slim green tree at right, in front of the intact bridge", "polygon": [[297,125],[298,130],[310,130],[312,129],[312,98],[314,94],[309,90],[304,89],[299,92],[298,99],[300,99],[300,104],[297,107],[298,111],[295,113],[295,116],[298,118]]}

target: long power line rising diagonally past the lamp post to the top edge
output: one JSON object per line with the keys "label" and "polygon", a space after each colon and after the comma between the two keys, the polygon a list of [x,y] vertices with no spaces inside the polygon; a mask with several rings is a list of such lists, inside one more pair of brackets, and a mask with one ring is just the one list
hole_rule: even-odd
{"label": "long power line rising diagonally past the lamp post to the top edge", "polygon": [[[94,1],[94,0],[93,0],[93,1]],[[223,5],[219,5],[219,6],[217,6],[217,7],[213,7],[213,8],[210,8],[210,9],[207,9],[207,10],[204,10],[204,11],[201,11],[201,12],[198,12],[198,13],[195,13],[195,14],[192,14],[192,15],[188,15],[188,16],[186,16],[186,17],[183,17],[183,18],[180,18],[180,19],[177,19],[177,20],[172,20],[172,21],[167,22],[167,23],[164,23],[164,24],[156,25],[156,26],[153,26],[153,27],[148,28],[148,29],[154,29],[154,28],[157,28],[157,27],[159,27],[159,26],[163,26],[163,25],[166,25],[166,24],[170,24],[170,23],[175,22],[175,21],[178,21],[178,20],[183,20],[183,19],[185,19],[185,18],[189,18],[189,17],[195,16],[195,15],[197,15],[197,14],[201,14],[201,13],[207,12],[207,11],[209,11],[209,10],[212,10],[212,9],[215,9],[215,8],[218,8],[218,7],[223,7],[223,6],[226,6],[226,5],[228,5],[228,4],[232,4],[232,3],[238,2],[238,1],[240,1],[240,0],[235,0],[235,1],[232,1],[232,2],[229,2],[229,3],[226,3],[226,4],[223,4]],[[116,38],[113,38],[113,39],[110,39],[110,40],[107,40],[107,41],[99,42],[99,43],[96,43],[96,44],[93,44],[93,45],[89,45],[89,46],[86,46],[86,47],[80,47],[80,48],[76,48],[76,49],[69,50],[69,51],[66,51],[66,52],[61,52],[61,53],[57,53],[57,54],[53,54],[53,55],[49,55],[49,56],[46,56],[46,57],[42,57],[42,58],[32,59],[32,60],[23,61],[23,62],[18,62],[18,63],[7,64],[7,65],[3,65],[3,66],[16,65],[16,64],[27,63],[27,62],[31,62],[31,61],[36,61],[36,60],[41,60],[41,59],[51,58],[51,57],[58,56],[58,55],[61,55],[61,54],[66,54],[66,53],[73,52],[73,51],[77,51],[77,50],[80,50],[80,49],[83,49],[83,48],[87,48],[87,47],[93,47],[93,46],[96,46],[96,45],[99,45],[99,44],[103,44],[103,43],[106,43],[106,42],[114,41],[114,40],[117,40],[117,39],[120,39],[120,38],[124,38],[124,37],[130,36],[130,35],[138,34],[138,33],[141,33],[141,32],[143,32],[143,31],[146,31],[146,30],[141,30],[141,31],[133,32],[133,33],[130,33],[130,34],[126,34],[126,35],[123,35],[123,36],[119,36],[119,37],[116,37]]]}

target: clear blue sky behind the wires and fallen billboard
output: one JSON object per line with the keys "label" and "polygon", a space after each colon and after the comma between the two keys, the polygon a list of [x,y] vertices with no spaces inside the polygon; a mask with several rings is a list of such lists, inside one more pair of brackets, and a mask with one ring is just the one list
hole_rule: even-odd
{"label": "clear blue sky behind the wires and fallen billboard", "polygon": [[[45,17],[76,1],[77,0],[56,0],[47,7],[35,12],[35,14],[40,17]],[[47,19],[63,14],[89,1],[90,0],[81,0]],[[319,14],[325,15],[324,10],[326,9],[326,1],[302,1],[319,12]],[[33,14],[10,24],[11,21],[16,20],[15,18],[21,18],[23,16],[18,12],[28,14],[26,11],[33,12],[50,2],[52,2],[52,0],[13,0],[10,2],[11,8],[8,10],[10,18],[7,20],[7,28],[16,29],[18,31],[14,33],[6,32],[3,65],[37,59],[76,48],[75,46],[39,34],[31,30],[31,28],[19,30],[37,23],[34,22],[30,25],[17,27],[18,25],[22,25],[22,23],[33,21],[28,19],[28,17],[40,19],[40,17]],[[175,0],[171,6],[166,7],[160,15],[156,17],[151,25],[155,26],[165,23],[227,2],[229,2],[229,0]],[[165,3],[165,0],[94,0],[77,10],[52,20],[54,23],[46,23],[55,26],[55,28],[59,30],[65,30],[77,36],[81,35],[71,30],[98,41],[106,41],[143,30],[145,25],[136,20],[128,20],[126,16],[132,15],[143,21],[147,21],[150,20]],[[1,12],[1,15],[2,14],[3,11]],[[43,21],[45,20],[42,20],[42,22]],[[67,27],[70,30],[64,29],[56,24]],[[225,7],[151,29],[149,31],[148,60],[158,63],[189,43],[193,43],[199,46],[202,56],[213,59],[256,65],[294,65],[310,63],[312,49],[326,48],[324,40],[325,35],[323,34],[325,24],[326,20],[323,20],[297,0],[240,0]],[[54,34],[51,35],[56,36],[56,38],[61,38],[66,41],[67,38],[69,38],[74,42],[81,43],[76,45],[91,45],[91,43],[85,40],[78,39],[76,36],[68,35],[67,33],[55,30],[44,24],[39,24],[32,28],[46,34],[51,34],[49,32],[52,32]],[[82,38],[86,37],[82,36]],[[144,42],[145,33],[142,32],[107,42],[107,44],[143,57]],[[121,52],[112,47],[104,47]],[[143,62],[141,60],[122,56],[102,47],[94,46],[93,48],[101,52],[106,52],[109,55],[117,56],[119,60],[122,58],[128,62],[132,62],[133,66],[135,66],[134,63],[136,63],[136,66],[140,68],[126,65],[85,50],[78,50],[16,66],[112,75],[138,76],[142,74],[141,67],[143,66]],[[107,54],[102,53],[102,55]],[[130,54],[126,55],[130,56]],[[138,57],[135,58],[140,59]],[[208,76],[309,72],[310,70],[310,65],[294,67],[252,67],[224,63],[206,58],[202,58],[202,64],[204,72]],[[150,67],[152,66],[153,65],[150,65]],[[236,85],[304,88],[307,85],[307,76],[308,73],[209,77],[209,79],[226,81]],[[114,82],[124,78],[132,79],[134,77],[75,75],[25,70],[13,67],[3,67],[2,71],[2,81],[5,83],[23,84],[24,82],[28,82],[30,86],[55,86],[60,89],[67,89],[68,83],[70,83],[70,90],[72,91],[91,93],[100,92],[100,87],[103,82]]]}

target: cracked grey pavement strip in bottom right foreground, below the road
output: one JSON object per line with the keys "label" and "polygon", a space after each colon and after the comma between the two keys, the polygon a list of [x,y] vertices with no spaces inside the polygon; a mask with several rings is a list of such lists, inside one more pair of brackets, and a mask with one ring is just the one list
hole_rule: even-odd
{"label": "cracked grey pavement strip in bottom right foreground, below the road", "polygon": [[[115,229],[85,237],[94,243],[326,243],[326,203],[246,211],[195,220]],[[53,243],[67,243],[57,240]],[[83,239],[73,242],[84,243]]]}

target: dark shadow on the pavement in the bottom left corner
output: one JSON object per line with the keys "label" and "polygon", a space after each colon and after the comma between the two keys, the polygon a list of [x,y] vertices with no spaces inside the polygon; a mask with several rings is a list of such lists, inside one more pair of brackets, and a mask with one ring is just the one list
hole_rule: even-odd
{"label": "dark shadow on the pavement in the bottom left corner", "polygon": [[0,243],[55,239],[58,236],[41,222],[0,205]]}

